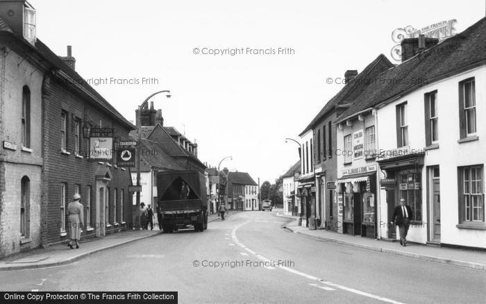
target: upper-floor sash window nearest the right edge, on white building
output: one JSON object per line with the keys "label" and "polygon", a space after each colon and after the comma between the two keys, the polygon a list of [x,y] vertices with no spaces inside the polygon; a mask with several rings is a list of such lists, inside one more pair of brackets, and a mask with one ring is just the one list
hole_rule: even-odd
{"label": "upper-floor sash window nearest the right edge, on white building", "polygon": [[459,83],[460,137],[476,134],[476,85],[474,78]]}

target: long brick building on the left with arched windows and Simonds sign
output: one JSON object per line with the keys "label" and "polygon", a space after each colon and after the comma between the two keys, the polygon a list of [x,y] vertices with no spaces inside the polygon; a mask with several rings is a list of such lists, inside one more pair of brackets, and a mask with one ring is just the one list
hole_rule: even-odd
{"label": "long brick building on the left with arched windows and Simonds sign", "polygon": [[[8,115],[18,120],[17,130],[6,128],[8,134],[2,134],[2,140],[8,142],[3,146],[11,148],[6,153],[8,162],[15,160],[17,165],[28,166],[26,172],[32,175],[32,178],[28,177],[28,183],[21,179],[7,185],[6,192],[12,196],[10,191],[18,188],[22,189],[19,190],[21,193],[28,194],[24,199],[12,196],[9,200],[17,201],[12,204],[19,205],[15,208],[18,207],[20,214],[22,208],[30,205],[25,211],[26,222],[30,222],[30,246],[61,242],[67,237],[66,208],[75,193],[81,194],[81,203],[85,206],[88,227],[82,237],[102,236],[128,226],[128,219],[131,219],[130,172],[110,164],[115,162],[110,157],[103,162],[90,159],[93,154],[90,153],[88,134],[83,133],[89,133],[85,131],[95,127],[112,128],[112,140],[116,143],[128,138],[128,133],[135,127],[74,71],[76,60],[69,47],[68,56],[60,58],[35,37],[32,6],[21,0],[1,1],[0,6],[0,42],[6,52],[2,58],[8,58],[2,62],[5,63],[2,67],[6,67],[2,71],[9,76],[3,77],[9,92],[2,90],[2,106],[7,104]],[[15,55],[17,49],[22,56]],[[13,64],[14,69],[7,67]],[[21,66],[17,74],[9,72]],[[19,87],[24,87],[21,93]],[[11,124],[8,120],[5,122]],[[24,139],[30,140],[30,148],[23,144]],[[14,151],[15,144],[17,149]],[[107,151],[112,152],[112,149],[110,146]],[[2,152],[5,154],[5,149]],[[116,153],[114,155],[116,157]],[[23,170],[17,167],[18,172]],[[35,174],[29,170],[34,170]],[[6,169],[2,171],[6,171],[8,180],[17,177]],[[8,203],[2,203],[2,208],[8,206]],[[8,225],[15,223],[15,219],[22,219],[19,212],[5,218]],[[15,237],[10,239],[17,242]],[[20,242],[22,244],[22,240]],[[19,250],[16,245],[13,248]],[[6,251],[8,253],[12,250]]]}

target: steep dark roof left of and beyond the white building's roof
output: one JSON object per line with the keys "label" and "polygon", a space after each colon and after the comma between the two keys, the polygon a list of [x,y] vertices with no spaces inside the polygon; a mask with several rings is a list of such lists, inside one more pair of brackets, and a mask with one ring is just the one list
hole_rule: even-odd
{"label": "steep dark roof left of and beyond the white building's roof", "polygon": [[341,103],[351,103],[354,101],[355,98],[370,85],[370,83],[374,82],[374,79],[376,79],[378,74],[389,69],[390,67],[394,67],[392,62],[390,62],[385,55],[380,54],[380,56],[367,65],[367,67],[365,67],[360,74],[355,76],[352,81],[346,83],[340,92],[337,92],[337,94],[335,94],[335,96],[333,96],[333,98],[331,98],[326,105],[324,105],[324,108],[317,113],[316,117],[310,121],[310,124],[305,127],[299,136],[302,136],[305,132],[314,128],[317,124],[319,124],[319,122],[325,119],[330,112],[335,110],[336,105],[340,105]]}

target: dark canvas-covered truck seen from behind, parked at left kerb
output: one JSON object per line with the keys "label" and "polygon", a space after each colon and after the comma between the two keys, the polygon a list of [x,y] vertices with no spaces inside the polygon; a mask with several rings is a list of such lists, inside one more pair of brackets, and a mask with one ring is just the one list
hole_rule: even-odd
{"label": "dark canvas-covered truck seen from behind, parked at left kerb", "polygon": [[160,171],[157,173],[157,212],[164,233],[208,228],[206,180],[198,171]]}

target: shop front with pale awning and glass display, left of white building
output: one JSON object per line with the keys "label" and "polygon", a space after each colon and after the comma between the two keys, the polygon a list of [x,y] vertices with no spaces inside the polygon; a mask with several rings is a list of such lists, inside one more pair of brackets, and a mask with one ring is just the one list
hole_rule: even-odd
{"label": "shop front with pale awning and glass display, left of white building", "polygon": [[363,168],[358,170],[363,173],[344,174],[336,182],[340,204],[337,224],[342,233],[376,238],[376,165]]}

